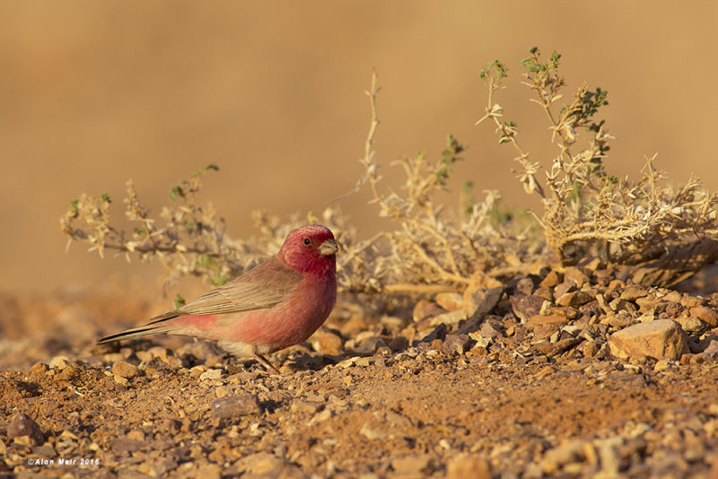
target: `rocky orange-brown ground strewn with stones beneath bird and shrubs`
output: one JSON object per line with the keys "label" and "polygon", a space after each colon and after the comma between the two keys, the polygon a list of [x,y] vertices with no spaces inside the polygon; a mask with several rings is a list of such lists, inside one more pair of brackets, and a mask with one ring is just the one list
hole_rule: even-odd
{"label": "rocky orange-brown ground strewn with stones beneath bird and shrubs", "polygon": [[4,295],[0,475],[718,477],[711,280],[534,270],[345,300],[281,375],[185,338],[94,345],[150,316],[137,296]]}

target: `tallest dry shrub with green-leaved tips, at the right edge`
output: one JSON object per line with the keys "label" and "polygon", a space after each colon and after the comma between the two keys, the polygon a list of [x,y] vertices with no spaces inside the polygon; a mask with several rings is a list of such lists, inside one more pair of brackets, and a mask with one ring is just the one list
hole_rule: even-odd
{"label": "tallest dry shrub with green-leaved tips, at the right edge", "polygon": [[[594,117],[607,104],[607,92],[583,83],[573,99],[564,99],[565,79],[558,74],[561,56],[547,61],[538,48],[521,64],[525,82],[546,112],[550,141],[558,152],[551,161],[532,162],[517,140],[518,127],[502,121],[495,93],[503,87],[506,67],[495,61],[481,71],[488,87],[486,114],[478,123],[495,124],[499,142],[512,144],[527,193],[541,197],[540,218],[547,244],[564,264],[596,256],[609,265],[636,266],[638,283],[670,286],[718,258],[716,196],[691,177],[680,187],[665,184],[655,155],[637,180],[606,172],[609,141],[605,122]],[[542,166],[542,163],[547,166]],[[545,186],[537,178],[545,170]]]}

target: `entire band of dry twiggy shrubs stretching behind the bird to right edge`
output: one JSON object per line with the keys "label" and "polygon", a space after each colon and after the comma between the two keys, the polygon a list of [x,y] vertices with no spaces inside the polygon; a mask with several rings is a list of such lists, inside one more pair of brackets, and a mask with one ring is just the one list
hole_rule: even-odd
{"label": "entire band of dry twiggy shrubs stretching behind the bird to right edge", "polygon": [[[593,119],[606,103],[606,92],[590,91],[584,84],[574,99],[561,107],[564,79],[557,74],[560,56],[543,62],[538,49],[524,60],[526,84],[536,94],[551,126],[550,141],[558,153],[538,178],[540,162],[531,162],[517,140],[518,127],[503,122],[503,109],[495,94],[503,87],[507,69],[500,62],[487,65],[481,77],[488,86],[486,115],[495,123],[501,143],[519,152],[519,179],[529,193],[541,197],[544,213],[538,219],[546,243],[536,234],[536,223],[514,221],[502,214],[501,195],[487,191],[482,201],[464,183],[460,205],[454,211],[436,202],[447,179],[460,161],[464,145],[449,136],[442,157],[429,161],[424,153],[397,161],[406,180],[399,187],[384,186],[381,166],[373,150],[379,126],[376,74],[366,91],[371,123],[364,144],[363,175],[355,190],[368,187],[380,217],[395,227],[372,238],[359,239],[355,228],[335,206],[319,215],[294,214],[281,220],[265,212],[253,213],[258,236],[229,238],[225,223],[212,205],[201,205],[197,194],[204,175],[217,170],[209,165],[171,188],[171,205],[154,216],[127,182],[125,217],[132,230],[112,222],[110,199],[82,195],[61,219],[68,241],[81,241],[103,256],[106,251],[129,260],[156,258],[171,282],[185,274],[219,285],[258,262],[276,254],[286,234],[307,222],[326,224],[337,236],[341,291],[363,293],[432,293],[463,291],[513,274],[526,272],[538,257],[546,257],[545,244],[564,263],[581,257],[600,257],[607,264],[640,265],[635,278],[643,283],[672,284],[714,261],[716,198],[696,179],[678,189],[661,186],[663,174],[647,160],[637,181],[617,179],[604,168],[609,140],[604,122]],[[585,135],[584,144],[580,140]],[[350,192],[351,194],[353,192]],[[650,262],[654,262],[651,264]],[[679,261],[679,263],[677,263]],[[642,273],[643,271],[643,273]],[[639,277],[640,276],[640,277]]]}

